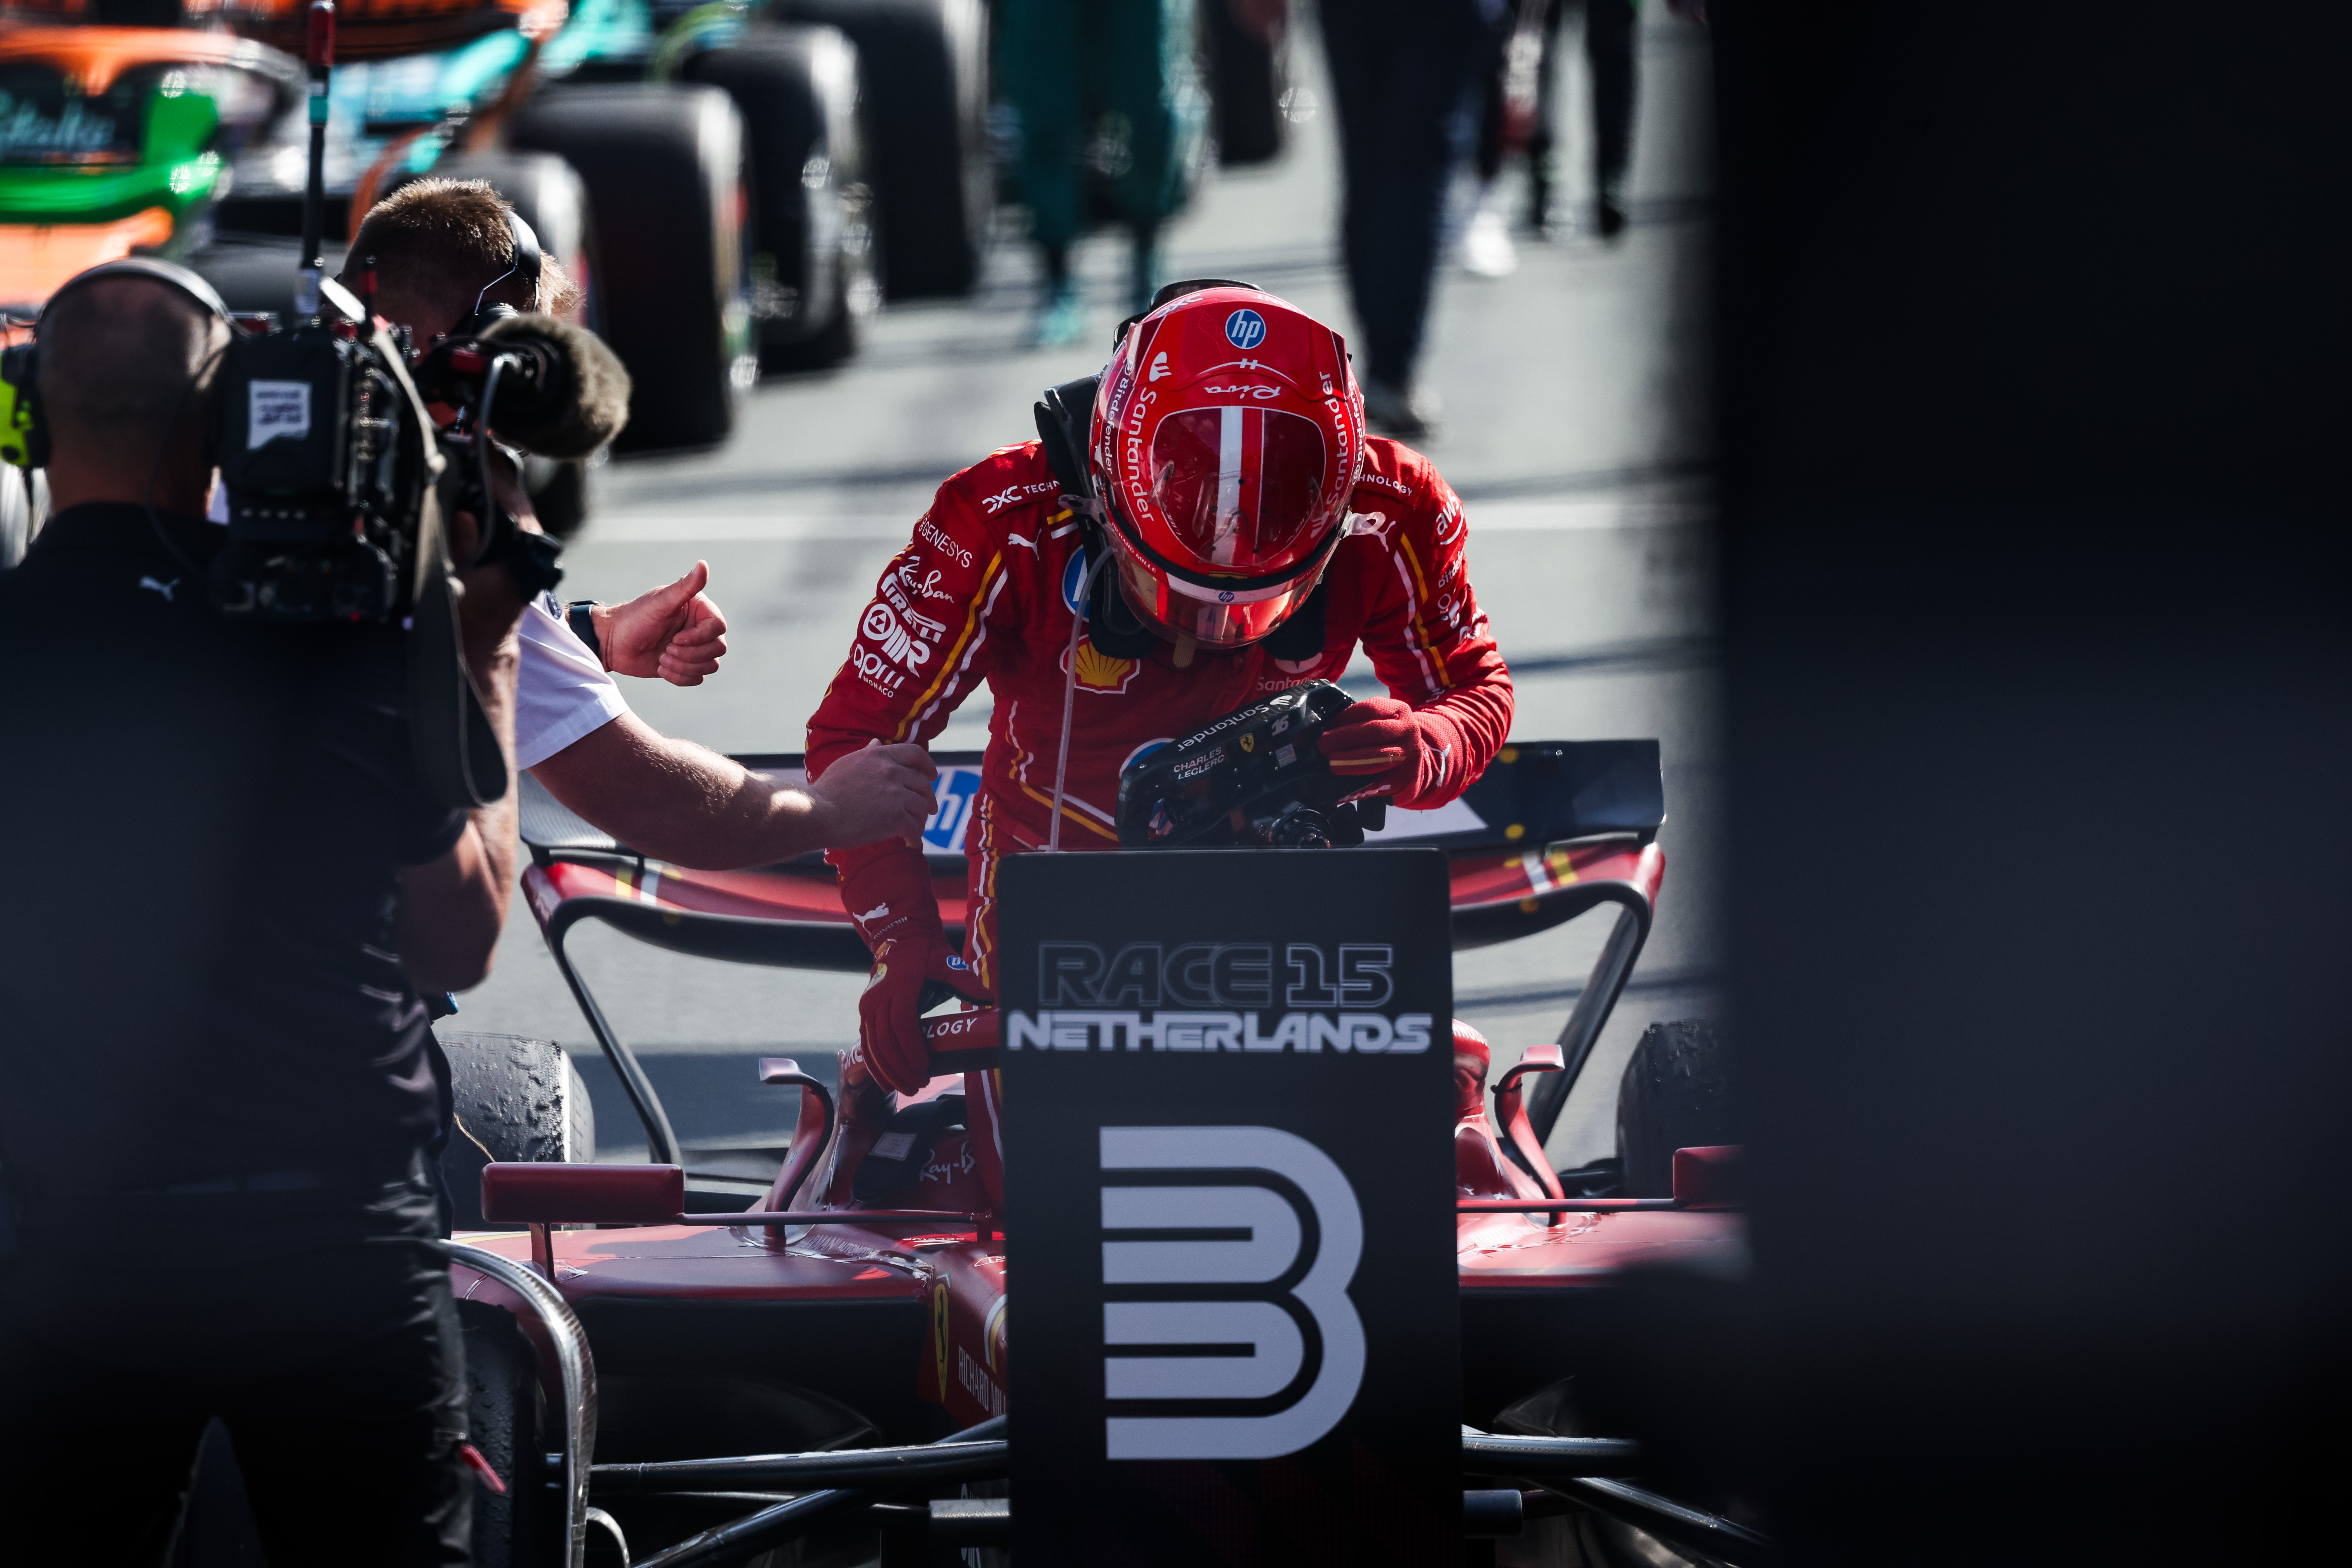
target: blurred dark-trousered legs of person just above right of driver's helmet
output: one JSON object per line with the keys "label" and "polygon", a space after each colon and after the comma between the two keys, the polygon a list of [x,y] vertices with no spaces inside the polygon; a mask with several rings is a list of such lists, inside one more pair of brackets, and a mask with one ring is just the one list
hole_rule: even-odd
{"label": "blurred dark-trousered legs of person just above right of driver's helmet", "polygon": [[[1263,2],[1263,0],[1258,0]],[[1364,421],[1430,435],[1421,334],[1444,244],[1446,186],[1470,158],[1505,0],[1319,0],[1338,99],[1348,292],[1362,322]]]}

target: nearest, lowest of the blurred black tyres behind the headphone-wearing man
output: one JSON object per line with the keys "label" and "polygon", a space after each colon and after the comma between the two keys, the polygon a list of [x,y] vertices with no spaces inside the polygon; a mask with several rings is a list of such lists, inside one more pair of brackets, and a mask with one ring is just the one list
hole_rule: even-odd
{"label": "nearest, lowest of the blurred black tyres behind the headphone-wearing man", "polygon": [[513,143],[588,186],[600,331],[635,383],[619,451],[713,447],[760,374],[743,118],[717,87],[581,82],[522,106]]}

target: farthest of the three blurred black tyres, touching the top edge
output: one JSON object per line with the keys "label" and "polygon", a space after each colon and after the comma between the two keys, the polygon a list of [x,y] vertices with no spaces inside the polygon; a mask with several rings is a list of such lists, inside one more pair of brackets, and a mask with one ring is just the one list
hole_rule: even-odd
{"label": "farthest of the three blurred black tyres, touching the top edge", "polygon": [[858,47],[887,299],[964,294],[995,205],[983,0],[779,0]]}

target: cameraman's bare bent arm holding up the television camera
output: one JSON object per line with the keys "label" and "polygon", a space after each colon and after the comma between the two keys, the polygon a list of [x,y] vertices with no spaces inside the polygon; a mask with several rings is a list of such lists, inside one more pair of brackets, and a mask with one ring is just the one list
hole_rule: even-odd
{"label": "cameraman's bare bent arm holding up the television camera", "polygon": [[[482,712],[499,736],[508,773],[515,769],[515,621],[522,597],[506,567],[461,578],[459,632],[466,670],[482,693]],[[489,957],[506,929],[515,889],[515,795],[466,813],[466,832],[440,860],[400,872],[400,966],[421,994],[459,992],[489,978]]]}

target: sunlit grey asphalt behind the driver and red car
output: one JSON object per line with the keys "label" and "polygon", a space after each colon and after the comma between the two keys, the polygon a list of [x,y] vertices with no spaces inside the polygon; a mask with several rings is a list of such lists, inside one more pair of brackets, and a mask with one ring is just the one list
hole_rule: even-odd
{"label": "sunlit grey asphalt behind the driver and red car", "polygon": [[[1590,212],[1588,78],[1569,21],[1559,106],[1564,209]],[[1291,42],[1301,103],[1268,169],[1211,172],[1167,235],[1164,277],[1247,277],[1350,322],[1338,268],[1338,158],[1319,47]],[[1613,1150],[1616,1084],[1646,1023],[1715,1006],[1712,893],[1719,743],[1710,651],[1708,505],[1708,42],[1649,7],[1632,179],[1635,223],[1519,240],[1503,280],[1449,266],[1425,381],[1446,423],[1425,442],[1470,510],[1470,576],[1517,677],[1519,738],[1658,736],[1670,820],[1658,926],[1550,1140],[1557,1164]],[[1505,172],[1512,212],[1524,193]],[[1588,221],[1588,219],[1585,219]],[[1037,390],[1089,374],[1124,315],[1127,244],[1091,240],[1084,348],[1030,350],[1035,261],[1000,233],[967,301],[894,306],[840,371],[769,378],[713,454],[614,463],[600,512],[564,555],[564,597],[623,599],[710,562],[729,656],[699,689],[626,679],[666,733],[720,750],[800,750],[856,614],[946,475],[1030,435]],[[1359,661],[1362,663],[1362,661]],[[978,748],[985,696],[941,750]],[[1550,1041],[1609,914],[1456,959],[1456,1013],[1496,1041],[1496,1072]],[[588,924],[572,938],[614,1027],[644,1058],[696,1168],[760,1168],[788,1138],[795,1095],[757,1086],[757,1056],[828,1072],[856,1032],[856,976],[682,959]],[[442,1027],[564,1041],[597,1103],[600,1152],[642,1159],[642,1135],[555,964],[515,900],[496,973]],[[731,1154],[729,1154],[731,1152]],[[774,1171],[774,1164],[764,1166]]]}

